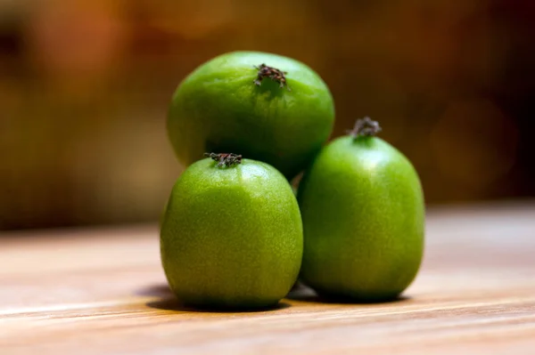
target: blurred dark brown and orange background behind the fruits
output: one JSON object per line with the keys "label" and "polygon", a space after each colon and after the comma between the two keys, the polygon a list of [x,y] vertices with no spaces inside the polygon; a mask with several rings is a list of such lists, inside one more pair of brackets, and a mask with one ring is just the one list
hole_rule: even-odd
{"label": "blurred dark brown and orange background behind the fruits", "polygon": [[317,70],[430,206],[535,197],[531,0],[0,0],[0,230],[156,222],[170,97],[235,50]]}

